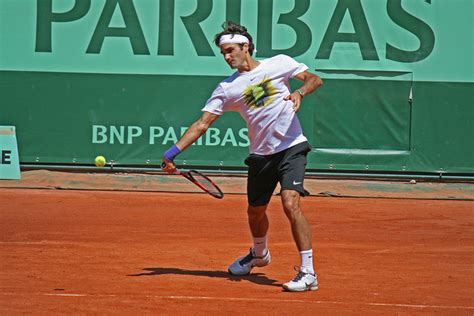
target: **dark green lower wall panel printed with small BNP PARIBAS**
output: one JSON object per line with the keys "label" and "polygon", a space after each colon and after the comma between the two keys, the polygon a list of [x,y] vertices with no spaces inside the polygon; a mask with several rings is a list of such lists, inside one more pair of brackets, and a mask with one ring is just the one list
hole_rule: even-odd
{"label": "dark green lower wall panel printed with small BNP PARIBAS", "polygon": [[[368,76],[368,75],[367,75]],[[22,163],[157,165],[221,77],[1,72],[2,122]],[[299,117],[310,169],[473,173],[473,84],[326,79]],[[248,138],[226,113],[178,163],[243,166]],[[184,161],[183,161],[184,160]]]}

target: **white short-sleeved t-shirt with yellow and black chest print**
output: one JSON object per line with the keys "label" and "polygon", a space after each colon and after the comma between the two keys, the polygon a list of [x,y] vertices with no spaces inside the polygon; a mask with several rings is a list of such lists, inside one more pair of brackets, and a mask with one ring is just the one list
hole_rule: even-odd
{"label": "white short-sleeved t-shirt with yellow and black chest print", "polygon": [[202,111],[239,112],[247,123],[250,153],[271,155],[306,141],[291,100],[289,79],[307,70],[286,55],[260,61],[248,72],[235,72],[212,93]]}

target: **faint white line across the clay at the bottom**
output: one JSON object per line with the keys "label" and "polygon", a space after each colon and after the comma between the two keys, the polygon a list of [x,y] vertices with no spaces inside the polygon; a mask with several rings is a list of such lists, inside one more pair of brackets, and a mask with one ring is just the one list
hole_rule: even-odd
{"label": "faint white line across the clay at the bottom", "polygon": [[[16,296],[18,293],[0,293],[1,295]],[[26,294],[26,293],[25,293]],[[417,309],[467,309],[474,310],[474,306],[442,306],[442,305],[421,305],[421,304],[398,304],[398,303],[363,303],[363,302],[338,302],[338,301],[311,301],[297,299],[273,299],[273,298],[245,298],[245,297],[212,297],[212,296],[179,296],[179,295],[116,295],[116,294],[79,294],[79,293],[30,293],[35,296],[57,296],[57,297],[146,297],[170,300],[206,300],[206,301],[242,301],[242,302],[285,302],[285,303],[305,303],[305,304],[331,304],[331,305],[359,305],[359,306],[384,306],[384,307],[406,307]]]}

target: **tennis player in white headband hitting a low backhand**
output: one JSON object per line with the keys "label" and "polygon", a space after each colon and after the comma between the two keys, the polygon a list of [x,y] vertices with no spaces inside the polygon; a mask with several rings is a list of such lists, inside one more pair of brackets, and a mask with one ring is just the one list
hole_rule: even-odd
{"label": "tennis player in white headband hitting a low backhand", "polygon": [[[173,160],[179,153],[203,135],[224,112],[239,112],[247,123],[250,139],[250,155],[245,163],[248,165],[247,214],[253,247],[232,263],[228,271],[232,275],[246,275],[252,268],[270,263],[266,210],[279,182],[283,209],[301,256],[296,277],[283,284],[283,288],[294,292],[317,290],[310,225],[300,207],[300,197],[308,194],[303,182],[306,155],[311,147],[296,112],[301,100],[320,87],[322,81],[308,72],[306,65],[286,55],[255,60],[252,36],[247,29],[230,21],[222,27],[224,30],[215,36],[215,44],[230,68],[237,71],[219,83],[202,109],[202,116],[163,154],[163,170],[176,172]],[[302,86],[291,92],[290,78],[301,81]]]}

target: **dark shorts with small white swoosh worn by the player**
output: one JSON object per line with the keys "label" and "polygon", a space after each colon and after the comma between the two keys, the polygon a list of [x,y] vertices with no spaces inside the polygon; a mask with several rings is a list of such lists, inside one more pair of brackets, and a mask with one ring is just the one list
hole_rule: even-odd
{"label": "dark shorts with small white swoosh worn by the player", "polygon": [[278,183],[281,190],[294,190],[301,196],[309,195],[303,187],[306,156],[311,151],[308,142],[297,144],[273,155],[250,154],[245,159],[249,166],[247,179],[248,203],[267,205]]}

